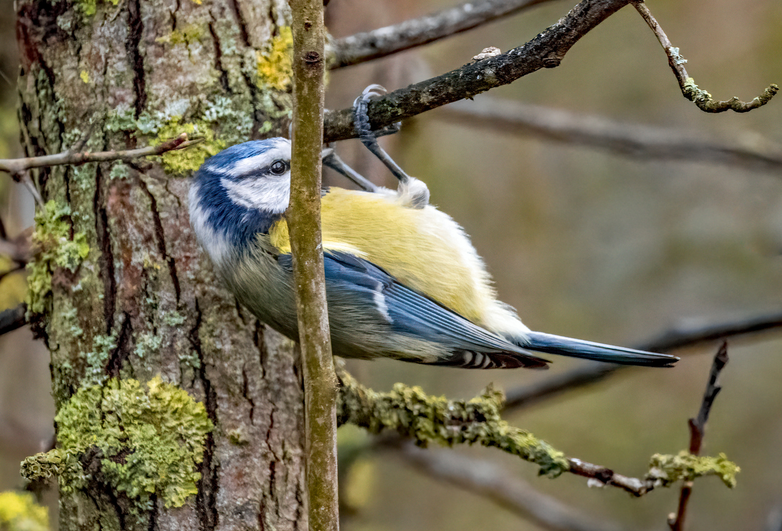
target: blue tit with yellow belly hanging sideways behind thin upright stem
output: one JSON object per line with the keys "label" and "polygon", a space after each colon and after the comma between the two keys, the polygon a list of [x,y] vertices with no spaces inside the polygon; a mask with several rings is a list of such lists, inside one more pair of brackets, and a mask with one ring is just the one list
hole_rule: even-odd
{"label": "blue tit with yellow belly hanging sideways behind thin upright stem", "polygon": [[[285,210],[291,145],[245,142],[195,173],[190,222],[225,285],[260,321],[298,339]],[[532,332],[497,300],[468,235],[415,178],[396,191],[329,188],[321,223],[336,355],[464,368],[544,368],[538,353],[669,366],[679,358]]]}

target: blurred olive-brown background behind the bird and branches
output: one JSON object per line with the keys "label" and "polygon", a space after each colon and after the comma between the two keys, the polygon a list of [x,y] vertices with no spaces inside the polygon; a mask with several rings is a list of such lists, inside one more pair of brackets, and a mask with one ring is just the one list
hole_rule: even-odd
{"label": "blurred olive-brown background behind the bird and branches", "polygon": [[[332,70],[326,106],[351,105],[368,84],[394,90],[468,63],[487,46],[521,45],[574,2],[545,2],[485,27],[360,66]],[[339,38],[454,5],[454,0],[332,0],[327,22]],[[782,2],[655,0],[647,4],[687,70],[716,99],[754,98],[782,84]],[[13,13],[11,0],[0,0]],[[0,157],[19,156],[16,44],[0,18]],[[8,78],[7,80],[5,78]],[[565,109],[626,124],[666,127],[689,138],[782,152],[782,96],[751,113],[702,113],[683,99],[662,48],[631,7],[592,30],[561,66],[479,95]],[[432,203],[462,224],[496,281],[500,299],[530,328],[602,343],[636,345],[680,326],[741,320],[780,309],[782,174],[713,163],[639,160],[604,149],[455,124],[434,110],[384,138],[389,152],[424,180]],[[357,141],[337,146],[375,182],[393,186]],[[347,186],[333,174],[326,184]],[[29,194],[0,174],[0,217],[13,237],[32,223]],[[4,266],[4,264],[0,264]],[[3,271],[0,269],[0,271]],[[22,273],[0,282],[0,310],[23,297]],[[717,345],[676,352],[674,369],[630,368],[597,385],[512,411],[508,420],[571,457],[643,475],[651,454],[687,447]],[[738,486],[695,483],[688,529],[780,529],[782,515],[782,336],[730,342],[723,391],[708,422],[704,454],[741,466]],[[465,371],[393,361],[350,361],[365,385],[394,382],[470,398],[489,382],[514,389],[549,371]],[[52,432],[48,354],[27,329],[0,337],[0,490],[20,485],[19,461]],[[340,430],[344,447],[359,430]],[[667,529],[678,487],[634,499],[588,489],[586,479],[536,477],[536,467],[484,448],[457,452],[495,461],[594,518],[622,529]],[[343,472],[343,471],[341,471]],[[422,475],[393,450],[361,454],[343,477],[343,529],[534,530],[539,526],[475,493]],[[56,521],[56,518],[52,518]]]}

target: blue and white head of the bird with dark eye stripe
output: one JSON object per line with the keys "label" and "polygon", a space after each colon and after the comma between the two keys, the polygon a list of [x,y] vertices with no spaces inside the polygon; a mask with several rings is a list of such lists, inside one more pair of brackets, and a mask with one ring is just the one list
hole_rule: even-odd
{"label": "blue and white head of the bird with dark eye stripe", "polygon": [[190,223],[213,261],[279,221],[289,203],[290,160],[290,141],[268,138],[232,145],[195,172]]}

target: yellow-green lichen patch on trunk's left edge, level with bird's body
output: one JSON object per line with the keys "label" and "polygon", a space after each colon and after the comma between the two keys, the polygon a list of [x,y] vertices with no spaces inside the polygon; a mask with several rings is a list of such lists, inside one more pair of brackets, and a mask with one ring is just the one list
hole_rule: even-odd
{"label": "yellow-green lichen patch on trunk's left edge, level with bird's body", "polygon": [[75,273],[90,246],[84,232],[70,235],[70,206],[49,201],[35,214],[32,236],[34,260],[27,264],[27,311],[43,314],[52,294],[52,273],[58,268]]}

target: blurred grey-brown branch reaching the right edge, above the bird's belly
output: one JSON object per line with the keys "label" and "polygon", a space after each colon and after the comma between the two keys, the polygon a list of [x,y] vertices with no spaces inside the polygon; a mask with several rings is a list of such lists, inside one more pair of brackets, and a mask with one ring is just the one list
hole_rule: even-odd
{"label": "blurred grey-brown branch reaching the right edge, above the bird's belly", "polygon": [[479,97],[444,106],[436,113],[460,124],[588,145],[640,159],[685,160],[748,170],[782,172],[782,149],[764,153],[739,145],[698,138],[666,127],[626,124],[521,102]]}

